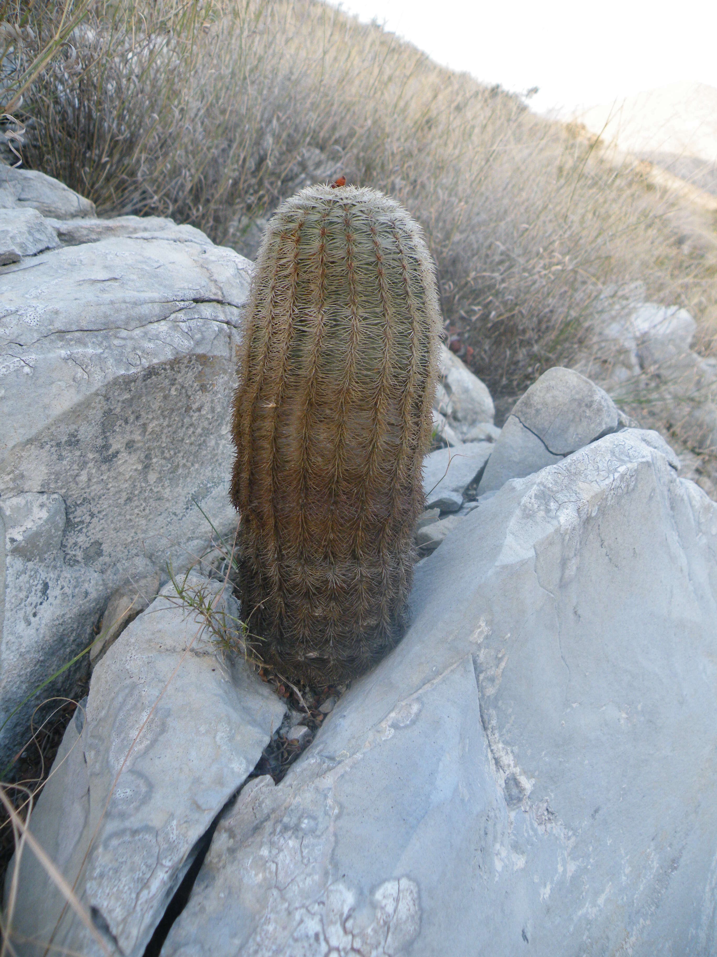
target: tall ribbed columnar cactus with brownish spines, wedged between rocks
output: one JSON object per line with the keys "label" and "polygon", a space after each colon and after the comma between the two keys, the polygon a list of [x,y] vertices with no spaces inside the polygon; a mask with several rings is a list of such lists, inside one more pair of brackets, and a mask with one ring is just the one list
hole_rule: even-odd
{"label": "tall ribbed columnar cactus with brownish spines, wedged between rocks", "polygon": [[359,674],[406,622],[439,306],[421,230],[374,189],[303,189],[256,262],[234,400],[242,616],[290,679]]}

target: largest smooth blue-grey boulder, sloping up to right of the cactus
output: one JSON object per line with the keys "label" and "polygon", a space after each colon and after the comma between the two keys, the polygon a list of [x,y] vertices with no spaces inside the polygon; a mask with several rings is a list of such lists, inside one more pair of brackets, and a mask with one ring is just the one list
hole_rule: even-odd
{"label": "largest smooth blue-grey boulder, sloping up to right of the cactus", "polygon": [[479,504],[163,957],[714,954],[717,504],[675,466],[626,430]]}

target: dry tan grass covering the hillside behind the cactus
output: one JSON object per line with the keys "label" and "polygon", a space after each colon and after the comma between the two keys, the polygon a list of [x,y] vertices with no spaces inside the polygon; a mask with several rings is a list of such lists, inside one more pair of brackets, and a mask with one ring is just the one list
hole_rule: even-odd
{"label": "dry tan grass covering the hillside behind the cactus", "polygon": [[[446,327],[498,396],[589,351],[597,301],[630,281],[714,311],[715,262],[685,251],[639,170],[378,27],[315,0],[77,11],[73,46],[28,71],[15,113],[26,163],[100,214],[171,215],[237,244],[306,182],[340,171],[382,189],[424,225]],[[50,37],[61,13],[35,0],[26,26]]]}

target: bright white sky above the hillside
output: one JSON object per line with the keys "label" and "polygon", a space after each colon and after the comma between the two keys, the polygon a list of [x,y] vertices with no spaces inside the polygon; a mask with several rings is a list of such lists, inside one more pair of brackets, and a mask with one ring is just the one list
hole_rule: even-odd
{"label": "bright white sky above the hillside", "polygon": [[334,0],[439,63],[522,92],[538,112],[669,83],[717,87],[715,0]]}

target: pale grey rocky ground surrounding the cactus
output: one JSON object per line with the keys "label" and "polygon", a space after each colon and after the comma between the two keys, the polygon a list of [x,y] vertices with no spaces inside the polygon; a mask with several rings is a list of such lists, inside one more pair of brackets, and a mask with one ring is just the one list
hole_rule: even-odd
{"label": "pale grey rocky ground surrounding the cactus", "polygon": [[[565,368],[498,429],[443,347],[408,632],[295,688],[232,592],[250,262],[0,173],[4,762],[93,644],[31,816],[76,907],[26,847],[17,953],[713,953],[717,503],[663,438]],[[605,328],[605,383],[714,371],[684,311]]]}

